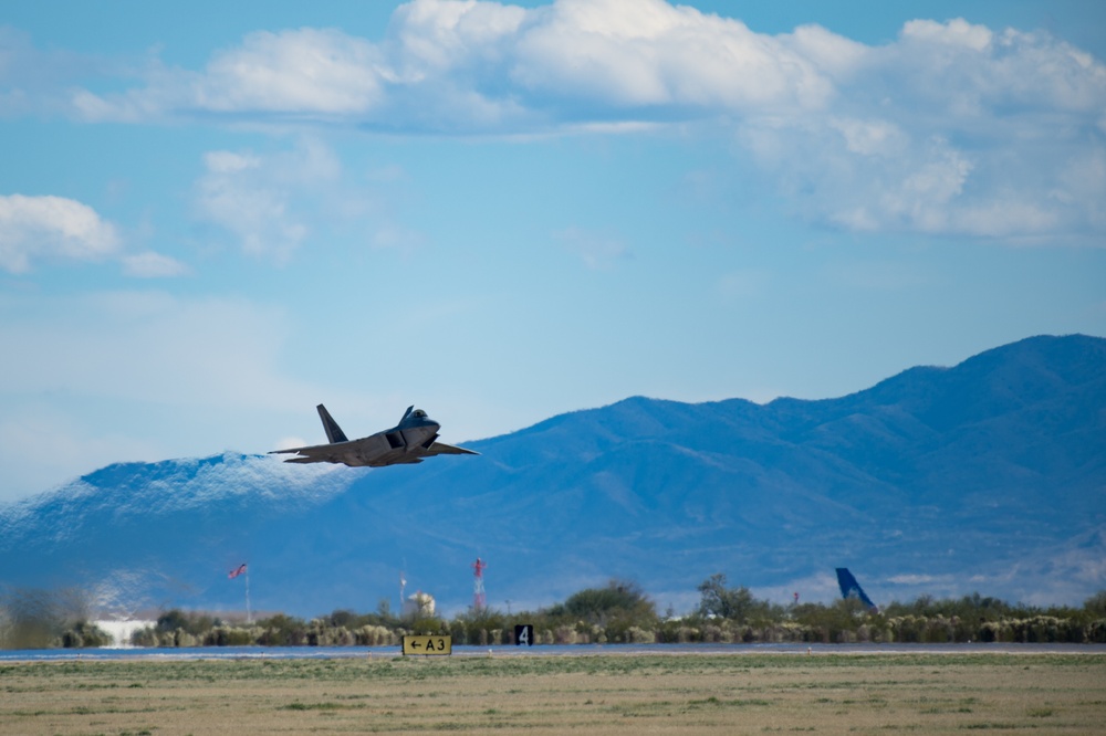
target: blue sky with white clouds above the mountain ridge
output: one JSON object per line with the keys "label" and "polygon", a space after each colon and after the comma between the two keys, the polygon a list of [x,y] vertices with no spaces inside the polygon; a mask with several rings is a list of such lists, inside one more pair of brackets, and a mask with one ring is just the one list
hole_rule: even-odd
{"label": "blue sky with white clouds above the mountain ridge", "polygon": [[1106,6],[7,3],[0,501],[1106,335]]}

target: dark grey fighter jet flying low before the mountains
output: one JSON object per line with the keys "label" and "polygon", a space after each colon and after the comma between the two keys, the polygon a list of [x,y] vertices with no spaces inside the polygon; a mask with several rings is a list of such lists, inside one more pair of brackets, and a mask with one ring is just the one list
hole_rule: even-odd
{"label": "dark grey fighter jet flying low before the mountains", "polygon": [[361,440],[349,440],[334,421],[326,407],[319,404],[319,418],[323,420],[330,444],[310,448],[273,450],[269,454],[295,453],[302,458],[289,458],[286,463],[345,463],[351,467],[383,467],[400,463],[420,463],[434,455],[479,455],[479,452],[455,448],[438,442],[441,424],[415,407],[408,407],[399,423],[389,430],[371,434]]}

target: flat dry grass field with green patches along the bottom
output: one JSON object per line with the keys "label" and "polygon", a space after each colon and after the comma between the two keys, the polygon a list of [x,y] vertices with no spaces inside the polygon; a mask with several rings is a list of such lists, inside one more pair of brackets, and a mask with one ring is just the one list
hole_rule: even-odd
{"label": "flat dry grass field with green patches along the bottom", "polygon": [[0,734],[1106,734],[1094,654],[0,665]]}

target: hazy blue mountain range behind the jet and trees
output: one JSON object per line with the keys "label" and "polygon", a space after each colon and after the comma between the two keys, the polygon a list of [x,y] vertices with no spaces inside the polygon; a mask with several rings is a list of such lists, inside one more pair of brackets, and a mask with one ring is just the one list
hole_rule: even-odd
{"label": "hazy blue mountain range behind the jet and trees", "polygon": [[119,610],[300,616],[426,590],[563,600],[618,577],[664,611],[713,572],[779,602],[980,591],[1078,603],[1106,588],[1106,339],[1033,337],[838,399],[634,397],[380,470],[272,456],[111,465],[0,507],[0,582]]}

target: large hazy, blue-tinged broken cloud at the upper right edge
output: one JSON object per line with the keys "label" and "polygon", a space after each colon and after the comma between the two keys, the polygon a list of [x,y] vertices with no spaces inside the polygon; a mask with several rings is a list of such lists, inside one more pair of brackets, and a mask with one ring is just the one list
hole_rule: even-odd
{"label": "large hazy, blue-tinged broken cloud at the upper right edge", "polygon": [[1044,33],[963,20],[911,21],[865,55],[836,77],[831,115],[739,125],[796,211],[858,231],[1102,232],[1102,63]]}

